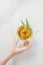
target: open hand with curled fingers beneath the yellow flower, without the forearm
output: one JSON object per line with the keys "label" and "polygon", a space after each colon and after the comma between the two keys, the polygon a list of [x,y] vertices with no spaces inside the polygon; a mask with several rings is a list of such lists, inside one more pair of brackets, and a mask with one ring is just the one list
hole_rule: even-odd
{"label": "open hand with curled fingers beneath the yellow flower, without the forearm", "polygon": [[19,39],[17,39],[16,42],[14,42],[14,44],[10,50],[13,55],[22,53],[22,52],[26,51],[27,49],[31,48],[29,41],[24,42],[24,44],[20,48],[17,48],[18,42],[19,42]]}

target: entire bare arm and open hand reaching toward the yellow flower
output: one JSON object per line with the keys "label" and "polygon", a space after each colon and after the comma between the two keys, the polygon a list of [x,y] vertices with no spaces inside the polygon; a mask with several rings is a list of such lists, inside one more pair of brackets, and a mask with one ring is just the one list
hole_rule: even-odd
{"label": "entire bare arm and open hand reaching toward the yellow flower", "polygon": [[15,55],[22,53],[28,49],[31,48],[31,45],[29,43],[29,41],[24,42],[24,44],[20,47],[17,48],[17,44],[19,42],[19,39],[17,39],[14,44],[12,45],[9,53],[0,61],[0,65],[5,65],[7,64],[7,62]]}

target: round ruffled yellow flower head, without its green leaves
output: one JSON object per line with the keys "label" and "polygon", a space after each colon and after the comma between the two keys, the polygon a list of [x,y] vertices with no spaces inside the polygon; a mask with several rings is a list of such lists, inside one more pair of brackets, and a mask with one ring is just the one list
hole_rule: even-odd
{"label": "round ruffled yellow flower head, without its green leaves", "polygon": [[21,25],[18,28],[18,36],[22,40],[27,40],[28,38],[30,38],[32,36],[32,29],[31,28],[27,29]]}

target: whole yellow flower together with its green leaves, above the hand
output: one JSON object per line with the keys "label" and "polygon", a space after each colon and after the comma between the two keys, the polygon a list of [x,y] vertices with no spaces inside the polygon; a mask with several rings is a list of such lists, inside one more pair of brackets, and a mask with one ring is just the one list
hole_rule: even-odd
{"label": "whole yellow flower together with its green leaves, above the hand", "polygon": [[32,29],[28,23],[28,20],[26,18],[26,24],[22,21],[22,25],[18,28],[18,36],[22,40],[27,40],[32,36]]}

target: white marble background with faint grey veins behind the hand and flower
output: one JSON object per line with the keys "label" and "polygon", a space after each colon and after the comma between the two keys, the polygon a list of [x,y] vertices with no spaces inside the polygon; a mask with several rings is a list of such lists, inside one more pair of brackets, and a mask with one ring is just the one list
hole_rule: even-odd
{"label": "white marble background with faint grey veins behind the hand and flower", "polygon": [[[14,3],[17,3],[17,5]],[[34,34],[32,48],[6,65],[43,65],[43,0],[0,0],[0,60],[8,53],[21,19],[28,18]]]}

